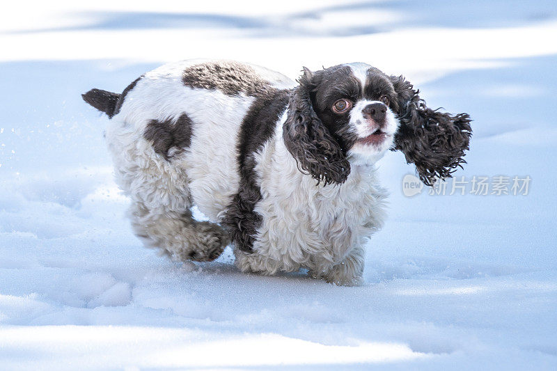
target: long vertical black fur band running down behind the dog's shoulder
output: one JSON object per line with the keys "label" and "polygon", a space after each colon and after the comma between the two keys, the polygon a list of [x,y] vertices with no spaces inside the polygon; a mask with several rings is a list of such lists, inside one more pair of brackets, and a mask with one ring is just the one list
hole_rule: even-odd
{"label": "long vertical black fur band running down behind the dog's shoulder", "polygon": [[222,225],[241,251],[252,251],[256,230],[262,222],[262,217],[253,211],[261,199],[253,155],[272,137],[276,121],[288,104],[289,95],[290,90],[264,90],[251,104],[240,127],[237,144],[240,187],[228,206]]}

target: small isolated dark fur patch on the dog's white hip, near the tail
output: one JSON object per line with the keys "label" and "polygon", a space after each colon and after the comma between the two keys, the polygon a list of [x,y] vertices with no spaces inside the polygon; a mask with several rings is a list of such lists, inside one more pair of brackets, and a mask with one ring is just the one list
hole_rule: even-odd
{"label": "small isolated dark fur patch on the dog's white hip, near the tail", "polygon": [[182,113],[178,120],[151,120],[143,132],[143,138],[152,142],[152,149],[169,159],[168,150],[183,150],[191,144],[191,119]]}

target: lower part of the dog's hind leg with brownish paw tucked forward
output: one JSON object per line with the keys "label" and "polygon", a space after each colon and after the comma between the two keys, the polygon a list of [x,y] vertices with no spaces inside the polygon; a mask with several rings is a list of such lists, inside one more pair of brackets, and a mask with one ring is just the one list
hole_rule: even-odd
{"label": "lower part of the dog's hind leg with brownish paw tucked forward", "polygon": [[153,212],[141,202],[130,207],[132,228],[148,247],[157,247],[175,260],[205,262],[221,255],[228,233],[215,223],[196,221],[191,212]]}

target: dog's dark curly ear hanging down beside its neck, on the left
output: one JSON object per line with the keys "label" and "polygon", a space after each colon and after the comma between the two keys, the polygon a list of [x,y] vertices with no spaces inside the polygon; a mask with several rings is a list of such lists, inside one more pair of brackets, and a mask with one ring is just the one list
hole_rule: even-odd
{"label": "dog's dark curly ear hanging down beside its neck, on the left", "polygon": [[304,67],[299,86],[292,91],[283,125],[286,148],[299,170],[309,173],[317,184],[341,184],[350,174],[350,163],[329,129],[317,117],[311,95],[322,79],[320,72]]}

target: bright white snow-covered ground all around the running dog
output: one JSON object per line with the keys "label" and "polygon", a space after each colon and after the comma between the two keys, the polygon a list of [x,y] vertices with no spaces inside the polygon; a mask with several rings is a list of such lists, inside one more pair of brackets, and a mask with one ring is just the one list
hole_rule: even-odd
{"label": "bright white snow-covered ground all around the running dog", "polygon": [[[177,3],[3,7],[1,370],[557,368],[554,0]],[[130,232],[107,118],[80,94],[196,57],[405,74],[429,106],[474,118],[466,193],[504,175],[509,190],[529,176],[528,194],[449,182],[409,198],[413,168],[391,152],[366,285],[242,274],[229,250],[160,258]]]}

